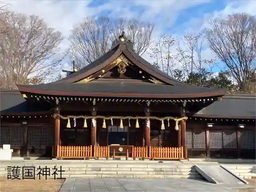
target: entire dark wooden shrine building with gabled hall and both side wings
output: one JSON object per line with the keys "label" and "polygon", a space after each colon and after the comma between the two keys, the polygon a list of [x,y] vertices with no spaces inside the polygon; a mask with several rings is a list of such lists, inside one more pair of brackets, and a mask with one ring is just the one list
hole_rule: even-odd
{"label": "entire dark wooden shrine building with gabled hall and both side wings", "polygon": [[125,35],[66,78],[17,87],[1,92],[0,129],[16,155],[255,158],[255,96],[180,82]]}

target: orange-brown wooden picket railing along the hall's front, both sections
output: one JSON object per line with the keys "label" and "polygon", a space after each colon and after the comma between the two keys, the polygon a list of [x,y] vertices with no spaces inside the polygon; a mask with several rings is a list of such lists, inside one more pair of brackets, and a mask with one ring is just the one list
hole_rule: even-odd
{"label": "orange-brown wooden picket railing along the hall's front, both sections", "polygon": [[[129,156],[130,153],[126,153]],[[106,158],[110,157],[110,146],[60,146],[57,158]],[[132,146],[131,157],[136,159],[184,159],[183,147]],[[127,157],[128,158],[128,157]]]}

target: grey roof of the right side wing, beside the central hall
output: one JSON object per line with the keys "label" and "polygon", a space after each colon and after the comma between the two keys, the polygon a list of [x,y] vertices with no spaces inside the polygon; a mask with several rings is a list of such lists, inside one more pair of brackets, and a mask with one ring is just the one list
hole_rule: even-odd
{"label": "grey roof of the right side wing, beside the central hall", "polygon": [[216,101],[199,111],[195,116],[208,117],[256,117],[255,95],[225,95],[221,101]]}

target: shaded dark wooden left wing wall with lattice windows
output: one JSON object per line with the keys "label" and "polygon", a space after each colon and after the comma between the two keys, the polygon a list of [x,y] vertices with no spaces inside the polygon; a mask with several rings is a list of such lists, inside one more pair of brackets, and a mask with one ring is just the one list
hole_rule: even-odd
{"label": "shaded dark wooden left wing wall with lattice windows", "polygon": [[51,157],[54,144],[53,117],[2,118],[0,147],[3,144],[11,144],[13,156]]}

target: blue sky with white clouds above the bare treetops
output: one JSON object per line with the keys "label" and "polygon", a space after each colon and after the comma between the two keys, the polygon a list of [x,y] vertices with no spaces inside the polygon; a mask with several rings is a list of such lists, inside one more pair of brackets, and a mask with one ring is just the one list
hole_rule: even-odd
{"label": "blue sky with white clouds above the bare treetops", "polygon": [[[153,38],[161,34],[180,37],[187,31],[198,32],[209,18],[224,18],[232,13],[255,14],[256,1],[239,0],[59,0],[59,1],[8,1],[10,9],[26,14],[36,14],[68,37],[72,26],[87,16],[137,18],[155,24]],[[215,55],[205,47],[205,59]],[[146,55],[144,55],[148,59]]]}

